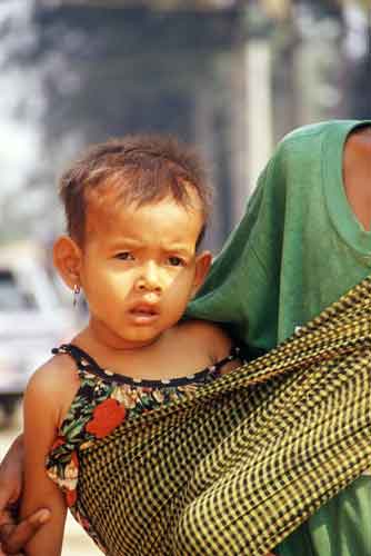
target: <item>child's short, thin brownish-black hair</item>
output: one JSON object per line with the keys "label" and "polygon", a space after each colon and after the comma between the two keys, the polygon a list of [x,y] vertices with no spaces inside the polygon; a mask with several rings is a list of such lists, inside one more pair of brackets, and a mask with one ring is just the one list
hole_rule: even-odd
{"label": "child's short, thin brownish-black hair", "polygon": [[92,196],[103,198],[104,192],[113,191],[118,200],[142,206],[171,195],[189,207],[189,188],[197,191],[203,212],[199,244],[210,212],[211,190],[199,155],[174,137],[127,136],[91,146],[60,179],[68,232],[81,246]]}

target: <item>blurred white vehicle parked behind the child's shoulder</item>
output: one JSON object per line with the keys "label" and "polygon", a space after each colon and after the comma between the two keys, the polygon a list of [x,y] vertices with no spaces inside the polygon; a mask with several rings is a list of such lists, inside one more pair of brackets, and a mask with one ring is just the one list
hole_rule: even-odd
{"label": "blurred white vehicle parked behind the child's shoulder", "polygon": [[7,416],[51,348],[77,329],[77,315],[63,306],[42,260],[29,244],[0,248],[0,406]]}

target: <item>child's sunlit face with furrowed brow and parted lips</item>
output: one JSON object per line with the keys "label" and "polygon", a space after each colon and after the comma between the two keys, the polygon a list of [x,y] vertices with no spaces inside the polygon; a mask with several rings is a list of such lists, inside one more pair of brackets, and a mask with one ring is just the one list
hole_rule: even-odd
{"label": "child's sunlit face with furrowed brow and parted lips", "polygon": [[186,209],[171,197],[110,211],[88,207],[80,282],[90,326],[111,346],[151,344],[173,326],[202,282],[210,254],[195,255],[202,227],[197,193]]}

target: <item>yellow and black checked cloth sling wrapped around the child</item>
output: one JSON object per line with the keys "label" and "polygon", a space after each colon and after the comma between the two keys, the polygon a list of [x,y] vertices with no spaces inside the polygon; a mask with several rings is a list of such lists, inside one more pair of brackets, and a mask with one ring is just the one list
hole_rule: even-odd
{"label": "yellow and black checked cloth sling wrapped around the child", "polygon": [[370,292],[81,451],[78,505],[107,554],[263,556],[369,468]]}

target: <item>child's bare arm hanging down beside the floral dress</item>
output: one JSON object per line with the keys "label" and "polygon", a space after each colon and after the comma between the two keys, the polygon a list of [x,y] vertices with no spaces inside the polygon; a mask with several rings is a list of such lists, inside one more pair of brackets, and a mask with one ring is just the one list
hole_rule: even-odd
{"label": "child's bare arm hanging down beside the floral dress", "polygon": [[46,473],[46,457],[56,438],[59,404],[62,397],[60,380],[53,365],[47,364],[31,378],[24,395],[24,495],[21,515],[48,507],[51,518],[28,543],[28,556],[61,554],[66,503],[58,486]]}

